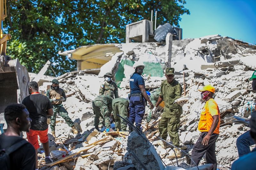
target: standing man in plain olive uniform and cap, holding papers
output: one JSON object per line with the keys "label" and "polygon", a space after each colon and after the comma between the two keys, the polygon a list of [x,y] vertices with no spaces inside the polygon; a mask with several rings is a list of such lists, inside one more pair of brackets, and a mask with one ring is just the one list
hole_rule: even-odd
{"label": "standing man in plain olive uniform and cap, holding papers", "polygon": [[[161,83],[161,92],[159,94],[156,106],[152,110],[152,115],[154,115],[158,105],[164,100],[164,113],[158,124],[159,133],[161,137],[166,140],[168,132],[173,145],[179,147],[180,138],[178,130],[180,125],[180,115],[182,114],[182,107],[173,102],[181,97],[182,87],[179,82],[174,79],[174,68],[166,68],[165,77],[166,80]],[[165,143],[164,147],[166,147]],[[174,151],[177,157],[181,157],[179,149],[174,148]],[[169,154],[168,158],[175,158],[174,152]]]}

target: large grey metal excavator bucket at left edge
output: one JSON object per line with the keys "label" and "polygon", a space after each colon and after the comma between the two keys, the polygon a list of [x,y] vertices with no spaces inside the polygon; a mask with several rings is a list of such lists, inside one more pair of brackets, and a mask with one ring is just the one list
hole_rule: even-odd
{"label": "large grey metal excavator bucket at left edge", "polygon": [[[21,103],[28,96],[28,70],[19,59],[5,60],[0,63],[0,113],[11,103]],[[0,114],[2,117],[3,114]],[[2,120],[0,118],[0,120]]]}

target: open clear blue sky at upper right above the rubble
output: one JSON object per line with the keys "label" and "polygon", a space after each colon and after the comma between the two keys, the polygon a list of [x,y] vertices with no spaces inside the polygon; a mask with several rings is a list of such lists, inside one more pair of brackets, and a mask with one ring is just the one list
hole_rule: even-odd
{"label": "open clear blue sky at upper right above the rubble", "polygon": [[183,39],[220,34],[256,44],[256,0],[186,0]]}

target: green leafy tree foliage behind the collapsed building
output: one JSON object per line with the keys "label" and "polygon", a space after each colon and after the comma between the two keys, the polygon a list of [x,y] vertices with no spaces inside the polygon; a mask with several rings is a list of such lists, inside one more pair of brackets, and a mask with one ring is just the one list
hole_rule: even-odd
{"label": "green leafy tree foliage behind the collapsed building", "polygon": [[[121,43],[125,25],[151,18],[157,25],[179,26],[189,14],[185,0],[7,0],[4,33],[12,39],[7,55],[19,58],[28,71],[38,72],[47,60],[58,75],[76,69],[76,62],[58,51],[95,43]],[[52,74],[50,72],[50,74]]]}

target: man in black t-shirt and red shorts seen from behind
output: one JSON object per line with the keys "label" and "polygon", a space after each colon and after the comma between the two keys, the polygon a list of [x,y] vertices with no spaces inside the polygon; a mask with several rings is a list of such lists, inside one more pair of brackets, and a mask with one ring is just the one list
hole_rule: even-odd
{"label": "man in black t-shirt and red shorts seen from behind", "polygon": [[28,92],[30,95],[22,101],[22,104],[28,109],[29,117],[32,119],[30,131],[27,132],[28,142],[35,147],[37,156],[39,136],[44,148],[45,163],[51,163],[49,158],[47,116],[53,115],[52,104],[46,96],[38,92],[38,84],[35,81],[28,83]]}

